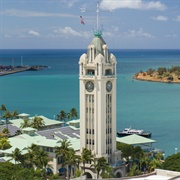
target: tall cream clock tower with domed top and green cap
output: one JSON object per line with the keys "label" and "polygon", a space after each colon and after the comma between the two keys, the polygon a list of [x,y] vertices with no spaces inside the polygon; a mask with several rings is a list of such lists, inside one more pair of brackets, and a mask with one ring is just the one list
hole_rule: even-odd
{"label": "tall cream clock tower with domed top and green cap", "polygon": [[116,64],[101,30],[96,30],[79,59],[80,145],[110,164],[121,159],[116,150]]}

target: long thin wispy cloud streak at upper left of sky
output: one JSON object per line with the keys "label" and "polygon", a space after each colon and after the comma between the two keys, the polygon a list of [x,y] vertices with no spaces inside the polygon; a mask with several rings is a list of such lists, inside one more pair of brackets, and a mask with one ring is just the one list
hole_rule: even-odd
{"label": "long thin wispy cloud streak at upper left of sky", "polygon": [[6,16],[13,16],[13,17],[76,17],[77,18],[77,16],[71,14],[22,11],[17,9],[8,9],[0,12],[0,14]]}

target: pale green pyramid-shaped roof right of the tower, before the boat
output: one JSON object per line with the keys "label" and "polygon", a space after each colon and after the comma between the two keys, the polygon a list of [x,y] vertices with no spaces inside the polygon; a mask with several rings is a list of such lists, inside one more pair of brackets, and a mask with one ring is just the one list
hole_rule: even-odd
{"label": "pale green pyramid-shaped roof right of the tower, before the boat", "polygon": [[148,138],[136,135],[136,134],[125,136],[122,138],[117,137],[116,141],[124,143],[124,144],[129,144],[129,145],[148,144],[148,143],[155,143],[156,142],[155,140],[148,139]]}

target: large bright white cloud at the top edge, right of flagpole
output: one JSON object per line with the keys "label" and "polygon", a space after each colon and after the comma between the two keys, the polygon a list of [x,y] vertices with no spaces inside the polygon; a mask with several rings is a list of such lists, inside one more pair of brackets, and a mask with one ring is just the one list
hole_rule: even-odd
{"label": "large bright white cloud at the top edge, right of flagpole", "polygon": [[139,9],[139,10],[165,10],[166,6],[159,1],[146,2],[144,0],[102,0],[100,7],[106,10]]}

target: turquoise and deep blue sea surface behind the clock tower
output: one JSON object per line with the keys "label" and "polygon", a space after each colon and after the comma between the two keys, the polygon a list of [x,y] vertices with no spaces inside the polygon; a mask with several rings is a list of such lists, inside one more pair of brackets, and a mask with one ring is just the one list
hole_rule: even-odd
{"label": "turquoise and deep blue sea surface behind the clock tower", "polygon": [[[10,111],[54,119],[64,110],[79,112],[81,50],[0,50],[1,65],[45,65],[0,77],[0,105]],[[165,156],[180,151],[180,84],[133,80],[149,68],[180,65],[180,50],[110,50],[117,58],[117,131],[125,127],[152,132],[153,147]]]}

